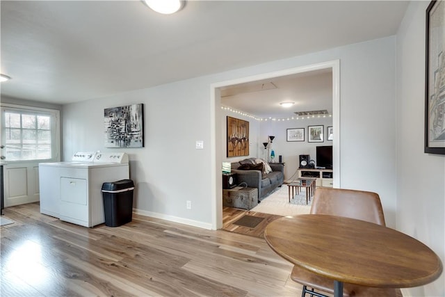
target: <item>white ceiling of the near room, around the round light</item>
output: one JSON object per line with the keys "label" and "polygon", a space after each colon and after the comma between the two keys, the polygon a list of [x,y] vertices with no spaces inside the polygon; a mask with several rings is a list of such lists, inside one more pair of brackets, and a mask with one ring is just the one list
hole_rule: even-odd
{"label": "white ceiling of the near room, around the round light", "polygon": [[142,1],[0,6],[13,78],[1,95],[66,104],[394,35],[407,1],[188,1],[175,15]]}

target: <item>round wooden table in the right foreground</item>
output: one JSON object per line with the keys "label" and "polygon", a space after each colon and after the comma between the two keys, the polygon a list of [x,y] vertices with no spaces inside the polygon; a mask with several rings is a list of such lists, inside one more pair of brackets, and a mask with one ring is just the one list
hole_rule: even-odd
{"label": "round wooden table in the right foreground", "polygon": [[405,288],[439,278],[442,262],[420,241],[381,225],[320,214],[284,217],[268,224],[266,242],[278,255],[334,282]]}

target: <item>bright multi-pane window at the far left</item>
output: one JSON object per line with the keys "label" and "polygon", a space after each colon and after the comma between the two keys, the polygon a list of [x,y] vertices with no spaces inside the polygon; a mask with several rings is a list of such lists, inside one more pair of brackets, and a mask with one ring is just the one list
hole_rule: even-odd
{"label": "bright multi-pane window at the far left", "polygon": [[58,111],[2,107],[6,161],[52,160],[58,156]]}

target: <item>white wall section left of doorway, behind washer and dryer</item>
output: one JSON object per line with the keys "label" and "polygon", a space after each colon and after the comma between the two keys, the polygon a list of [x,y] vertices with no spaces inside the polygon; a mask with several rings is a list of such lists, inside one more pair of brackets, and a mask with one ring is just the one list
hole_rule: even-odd
{"label": "white wall section left of doorway, behind washer and dryer", "polygon": [[[192,79],[64,106],[65,158],[77,150],[127,152],[136,184],[133,207],[210,228],[209,84]],[[144,104],[145,147],[104,148],[104,109],[135,103]],[[195,141],[204,141],[204,150],[196,150]]]}

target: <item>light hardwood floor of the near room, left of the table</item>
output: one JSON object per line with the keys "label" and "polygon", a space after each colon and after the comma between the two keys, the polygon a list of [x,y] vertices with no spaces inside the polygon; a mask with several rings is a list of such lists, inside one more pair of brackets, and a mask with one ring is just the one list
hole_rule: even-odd
{"label": "light hardwood floor of the near room, left of the table", "polygon": [[1,296],[300,296],[291,264],[264,239],[133,214],[86,228],[4,210]]}

